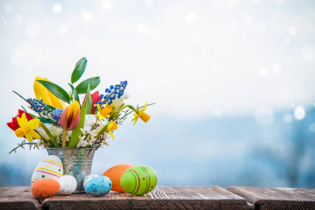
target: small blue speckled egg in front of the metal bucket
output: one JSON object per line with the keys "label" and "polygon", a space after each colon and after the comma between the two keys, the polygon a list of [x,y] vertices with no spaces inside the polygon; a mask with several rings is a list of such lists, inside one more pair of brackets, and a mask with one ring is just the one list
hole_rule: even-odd
{"label": "small blue speckled egg in front of the metal bucket", "polygon": [[99,176],[86,183],[84,189],[87,194],[92,196],[103,196],[109,193],[112,188],[112,181],[105,176]]}

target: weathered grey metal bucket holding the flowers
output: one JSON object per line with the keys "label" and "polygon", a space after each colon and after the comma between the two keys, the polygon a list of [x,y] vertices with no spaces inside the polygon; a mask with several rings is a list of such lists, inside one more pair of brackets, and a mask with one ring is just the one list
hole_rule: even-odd
{"label": "weathered grey metal bucket holding the flowers", "polygon": [[74,193],[84,193],[83,180],[91,173],[94,156],[92,148],[47,148],[48,155],[56,155],[63,164],[63,174],[77,180]]}

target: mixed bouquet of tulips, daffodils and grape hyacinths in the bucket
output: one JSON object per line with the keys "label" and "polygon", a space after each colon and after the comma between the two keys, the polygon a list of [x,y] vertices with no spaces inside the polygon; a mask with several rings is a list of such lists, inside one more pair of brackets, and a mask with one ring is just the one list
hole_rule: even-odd
{"label": "mixed bouquet of tulips, daffodils and grape hyacinths in the bucket", "polygon": [[[35,98],[25,99],[13,91],[28,103],[31,112],[22,106],[23,110],[19,109],[19,114],[7,123],[15,135],[22,138],[22,142],[9,153],[16,152],[17,148],[24,148],[27,145],[30,149],[42,147],[48,150],[48,154],[55,154],[61,158],[65,174],[73,174],[74,170],[79,173],[80,170],[85,169],[82,168],[83,166],[74,169],[73,165],[77,162],[67,163],[71,156],[76,156],[76,161],[80,158],[86,159],[86,156],[93,151],[92,158],[90,157],[93,159],[94,151],[102,145],[109,146],[108,139],[110,137],[114,139],[113,132],[131,113],[134,114],[132,119],[134,125],[138,118],[144,122],[150,119],[145,110],[154,103],[145,103],[142,107],[125,104],[124,100],[129,97],[125,93],[127,81],[110,85],[102,94],[98,91],[91,94],[100,82],[99,77],[86,79],[75,85],[84,73],[86,63],[85,58],[76,63],[71,75],[71,83],[68,83],[69,92],[40,77],[34,80]],[[85,94],[82,102],[80,102],[80,94]],[[61,152],[70,148],[73,149],[71,152]],[[55,152],[50,152],[54,149]],[[84,150],[89,152],[86,153]],[[82,164],[86,164],[84,160]],[[89,164],[85,176],[91,171],[92,161]],[[76,174],[74,176],[76,177]]]}

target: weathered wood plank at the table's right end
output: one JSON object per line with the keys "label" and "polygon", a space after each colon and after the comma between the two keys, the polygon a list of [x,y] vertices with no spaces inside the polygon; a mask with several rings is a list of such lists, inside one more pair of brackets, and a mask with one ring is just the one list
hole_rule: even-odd
{"label": "weathered wood plank at the table's right end", "polygon": [[228,187],[259,210],[265,209],[315,209],[315,192],[302,188]]}

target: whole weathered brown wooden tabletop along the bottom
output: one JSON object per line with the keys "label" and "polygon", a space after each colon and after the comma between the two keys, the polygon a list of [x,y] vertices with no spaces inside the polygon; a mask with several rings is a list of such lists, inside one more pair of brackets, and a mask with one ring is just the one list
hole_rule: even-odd
{"label": "whole weathered brown wooden tabletop along the bottom", "polygon": [[145,196],[112,192],[38,200],[30,187],[0,187],[0,209],[315,209],[315,189],[158,186]]}

